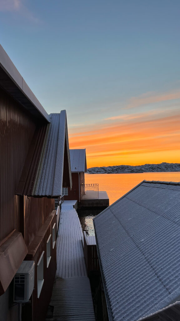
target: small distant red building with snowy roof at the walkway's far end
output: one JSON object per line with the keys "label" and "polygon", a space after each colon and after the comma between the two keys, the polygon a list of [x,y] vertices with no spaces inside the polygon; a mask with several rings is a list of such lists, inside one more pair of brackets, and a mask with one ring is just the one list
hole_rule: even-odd
{"label": "small distant red building with snowy roof at the walkway's far end", "polygon": [[[84,195],[85,173],[87,172],[86,149],[70,149],[72,189],[64,190],[64,200],[81,201]],[[68,194],[68,195],[67,195]]]}

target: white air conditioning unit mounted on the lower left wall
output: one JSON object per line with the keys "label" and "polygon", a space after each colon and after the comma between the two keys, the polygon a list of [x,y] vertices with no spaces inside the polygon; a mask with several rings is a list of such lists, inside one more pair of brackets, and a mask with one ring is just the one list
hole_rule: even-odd
{"label": "white air conditioning unit mounted on the lower left wall", "polygon": [[34,261],[23,261],[14,276],[14,302],[28,302],[34,289]]}

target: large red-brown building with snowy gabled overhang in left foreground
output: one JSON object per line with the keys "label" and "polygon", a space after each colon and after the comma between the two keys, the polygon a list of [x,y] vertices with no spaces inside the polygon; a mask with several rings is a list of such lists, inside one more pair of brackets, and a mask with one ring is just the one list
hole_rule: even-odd
{"label": "large red-brown building with snowy gabled overhang in left foreground", "polygon": [[[66,112],[45,112],[1,46],[0,117],[0,320],[41,321],[56,272],[54,198],[72,183]],[[23,260],[35,262],[35,282],[22,307],[13,281]]]}

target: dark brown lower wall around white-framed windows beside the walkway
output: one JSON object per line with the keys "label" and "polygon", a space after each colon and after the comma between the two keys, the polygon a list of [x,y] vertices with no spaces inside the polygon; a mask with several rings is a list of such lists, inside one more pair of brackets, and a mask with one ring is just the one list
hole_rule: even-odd
{"label": "dark brown lower wall around white-framed windows beside the walkway", "polygon": [[[53,248],[53,225],[56,223],[56,212],[50,214],[48,219],[45,221],[42,228],[37,233],[36,238],[33,240],[29,247],[29,253],[26,256],[26,260],[34,260],[35,261],[35,284],[34,284],[34,291],[32,293],[32,297],[30,298],[31,303],[29,307],[29,303],[25,304],[24,308],[24,316],[22,321],[44,321],[48,309],[48,305],[51,299],[51,294],[53,291],[53,282],[56,273],[56,243]],[[56,228],[56,226],[55,226]],[[49,266],[47,268],[47,249],[46,249],[46,242],[51,234],[51,260]],[[56,230],[55,230],[55,237],[56,237]],[[37,298],[37,263],[41,257],[41,254],[44,252],[43,255],[43,265],[44,265],[44,283],[43,287],[39,296]],[[27,311],[29,310],[29,315]],[[32,317],[32,318],[31,318]]]}

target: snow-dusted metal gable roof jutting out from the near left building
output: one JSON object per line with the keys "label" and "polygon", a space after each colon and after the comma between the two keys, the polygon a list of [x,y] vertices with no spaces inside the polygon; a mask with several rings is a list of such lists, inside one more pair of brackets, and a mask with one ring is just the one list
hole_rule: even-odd
{"label": "snow-dusted metal gable roof jutting out from the near left building", "polygon": [[50,121],[32,196],[62,195],[65,148],[68,153],[67,166],[69,166],[69,179],[72,186],[66,111],[61,110],[60,114],[50,114]]}

